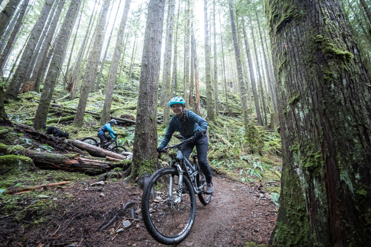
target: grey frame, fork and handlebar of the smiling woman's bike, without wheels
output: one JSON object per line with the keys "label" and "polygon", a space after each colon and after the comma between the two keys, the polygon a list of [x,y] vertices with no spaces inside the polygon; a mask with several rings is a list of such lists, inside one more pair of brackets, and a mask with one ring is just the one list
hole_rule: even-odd
{"label": "grey frame, fork and handlebar of the smiling woman's bike, without wheels", "polygon": [[[178,143],[175,146],[167,147],[167,148],[164,148],[164,149],[167,150],[169,148],[179,148],[181,145],[190,143],[193,140],[194,140],[194,137],[191,137],[187,140],[182,141],[181,143]],[[196,194],[201,193],[201,189],[206,186],[206,183],[204,183],[200,187],[198,187],[197,181],[195,179],[197,174],[198,174],[198,171],[196,170],[196,168],[194,166],[191,165],[191,163],[187,159],[184,159],[183,152],[180,149],[177,151],[176,160],[179,160],[179,162],[175,163],[175,166],[177,167],[178,174],[179,174],[179,181],[178,181],[178,190],[177,190],[178,198],[177,198],[177,200],[174,201],[174,203],[180,203],[181,198],[182,198],[182,187],[183,187],[183,176],[184,176],[183,174],[184,173],[188,174],[188,177],[191,180],[194,192]],[[184,171],[182,169],[182,167],[185,167],[187,171]],[[171,176],[170,177],[169,195],[168,195],[169,197],[168,198],[170,198],[173,195],[173,183],[174,183],[173,180],[174,180],[174,177]]]}

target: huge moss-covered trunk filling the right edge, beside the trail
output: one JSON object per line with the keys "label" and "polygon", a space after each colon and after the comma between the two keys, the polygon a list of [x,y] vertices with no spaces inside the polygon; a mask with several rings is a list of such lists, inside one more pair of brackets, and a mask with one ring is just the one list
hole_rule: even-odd
{"label": "huge moss-covered trunk filling the right edge, beside the trail", "polygon": [[339,1],[265,1],[283,172],[275,246],[368,246],[371,83]]}

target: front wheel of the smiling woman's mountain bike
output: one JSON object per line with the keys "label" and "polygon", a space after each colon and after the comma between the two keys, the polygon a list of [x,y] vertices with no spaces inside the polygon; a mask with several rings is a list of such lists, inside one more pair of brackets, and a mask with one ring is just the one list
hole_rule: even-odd
{"label": "front wheel of the smiling woman's mountain bike", "polygon": [[[176,168],[156,171],[142,194],[142,216],[151,236],[162,244],[177,244],[190,232],[196,217],[196,196],[190,180],[183,176],[181,202],[178,199],[179,174]],[[151,198],[151,191],[155,198]]]}

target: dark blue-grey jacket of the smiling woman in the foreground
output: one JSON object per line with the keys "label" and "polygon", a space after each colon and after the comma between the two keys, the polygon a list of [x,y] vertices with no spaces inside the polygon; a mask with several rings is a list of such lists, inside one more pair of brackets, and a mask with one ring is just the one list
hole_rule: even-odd
{"label": "dark blue-grey jacket of the smiling woman in the foreground", "polygon": [[167,131],[165,133],[164,140],[162,140],[161,142],[162,147],[166,147],[175,131],[179,131],[181,136],[183,136],[183,140],[192,137],[194,133],[196,133],[197,131],[202,130],[204,130],[205,132],[207,131],[208,123],[206,120],[204,120],[202,117],[198,116],[196,113],[190,110],[187,110],[186,114],[187,114],[186,115],[187,126],[185,128],[187,130],[187,133],[184,132],[182,119],[177,117],[177,115],[174,115],[170,119],[169,125],[167,126]]}

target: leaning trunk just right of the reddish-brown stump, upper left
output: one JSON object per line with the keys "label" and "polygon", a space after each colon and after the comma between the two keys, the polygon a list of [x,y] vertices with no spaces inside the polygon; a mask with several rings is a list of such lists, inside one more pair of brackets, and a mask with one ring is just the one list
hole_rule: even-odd
{"label": "leaning trunk just right of the reddish-brown stump, upper left", "polygon": [[52,39],[53,39],[53,36],[54,36],[54,33],[55,33],[55,29],[56,29],[58,21],[59,21],[60,13],[62,12],[62,9],[63,9],[63,6],[64,6],[65,2],[66,2],[65,0],[59,0],[59,2],[58,2],[58,7],[57,7],[57,10],[56,10],[56,13],[53,17],[53,20],[51,22],[49,30],[47,30],[46,37],[45,37],[45,40],[44,40],[44,44],[41,47],[39,55],[37,56],[37,60],[35,62],[35,69],[32,72],[31,81],[34,82],[33,85],[32,85],[32,91],[35,91],[37,93],[39,93],[39,91],[40,91],[40,84],[41,84],[41,81],[42,81],[42,78],[43,78],[44,68],[47,65],[47,63],[46,63],[47,52],[49,50],[50,43],[52,42]]}

